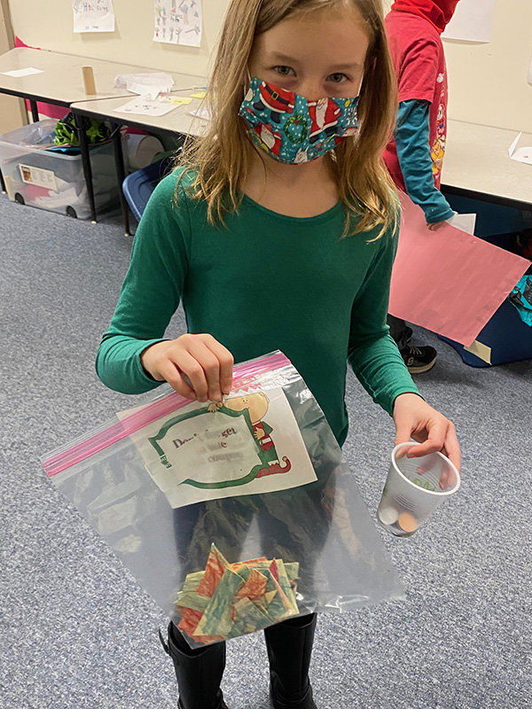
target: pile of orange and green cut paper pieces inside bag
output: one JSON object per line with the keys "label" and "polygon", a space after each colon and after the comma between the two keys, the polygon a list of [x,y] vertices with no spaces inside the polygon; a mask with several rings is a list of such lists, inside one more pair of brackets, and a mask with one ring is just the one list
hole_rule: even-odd
{"label": "pile of orange and green cut paper pieces inside bag", "polygon": [[213,542],[205,571],[189,573],[176,597],[179,629],[196,643],[254,633],[299,612],[299,564],[259,557],[229,564]]}

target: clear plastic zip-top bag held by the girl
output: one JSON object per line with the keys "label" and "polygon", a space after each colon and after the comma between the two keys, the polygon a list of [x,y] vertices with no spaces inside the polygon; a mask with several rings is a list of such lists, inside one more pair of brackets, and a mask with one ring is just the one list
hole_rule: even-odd
{"label": "clear plastic zip-top bag held by the girl", "polygon": [[163,386],[43,468],[192,647],[403,597],[323,411],[280,352],[221,403]]}

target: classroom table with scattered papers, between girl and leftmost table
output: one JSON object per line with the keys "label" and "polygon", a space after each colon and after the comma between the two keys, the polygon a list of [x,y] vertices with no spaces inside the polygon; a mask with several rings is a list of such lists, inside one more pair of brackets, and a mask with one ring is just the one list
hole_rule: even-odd
{"label": "classroom table with scattered papers, between girl and leftmost table", "polygon": [[[205,85],[206,79],[201,79],[199,76],[190,76],[189,79],[197,84]],[[193,90],[192,90],[193,92]],[[177,90],[176,86],[170,96],[187,97],[191,93],[191,89]],[[129,94],[130,98],[134,98]],[[86,118],[99,118],[103,121],[109,121],[111,125],[111,133],[113,135],[114,145],[114,160],[116,164],[116,174],[118,183],[121,185],[126,177],[124,160],[121,146],[121,126],[133,126],[143,130],[153,130],[157,133],[165,133],[169,136],[201,136],[208,128],[208,121],[191,115],[191,111],[195,111],[202,105],[202,99],[192,98],[192,102],[188,105],[177,105],[169,113],[163,116],[145,116],[135,113],[118,113],[117,108],[128,103],[123,97],[121,98],[102,98],[96,101],[78,101],[70,106],[70,110],[74,115]],[[80,140],[86,140],[84,133],[80,134]],[[88,149],[88,148],[87,148]],[[92,185],[90,185],[90,194],[92,194]],[[124,197],[123,191],[120,189],[121,211],[124,222],[124,231],[127,237],[129,233],[129,211],[128,203]]]}

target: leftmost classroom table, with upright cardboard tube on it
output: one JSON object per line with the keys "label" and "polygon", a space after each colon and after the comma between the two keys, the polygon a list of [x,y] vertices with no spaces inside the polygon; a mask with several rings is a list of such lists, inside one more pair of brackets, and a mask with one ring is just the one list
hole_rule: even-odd
{"label": "leftmost classroom table, with upright cardboard tube on it", "polygon": [[[42,73],[20,76],[18,78],[4,74],[4,72],[25,69],[30,66],[35,69],[41,69]],[[88,97],[85,93],[82,66],[91,66],[94,72],[97,93],[91,97]],[[31,105],[33,120],[38,121],[37,101],[43,101],[44,103],[53,105],[64,105],[66,108],[70,108],[71,105],[77,101],[88,103],[90,101],[100,101],[106,98],[113,99],[117,97],[125,103],[123,97],[134,98],[135,95],[129,93],[124,87],[120,89],[114,87],[114,79],[118,74],[146,74],[160,71],[160,69],[148,68],[146,66],[118,64],[104,59],[80,57],[73,54],[63,54],[57,51],[18,47],[17,49],[7,51],[0,55],[0,93],[27,98]],[[172,76],[174,80],[174,90],[192,89],[194,86],[205,84],[205,79],[200,76],[168,72],[166,70],[164,70],[164,73]],[[82,137],[85,137],[82,113],[78,113],[76,116],[76,128],[78,129],[78,136],[80,136],[82,168],[89,194],[91,217],[92,221],[96,222],[89,146],[86,140],[82,140]],[[2,190],[5,191],[3,180]]]}

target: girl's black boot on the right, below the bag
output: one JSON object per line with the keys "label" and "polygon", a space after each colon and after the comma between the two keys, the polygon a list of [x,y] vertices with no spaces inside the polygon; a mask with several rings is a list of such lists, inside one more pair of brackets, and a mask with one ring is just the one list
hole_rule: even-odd
{"label": "girl's black boot on the right, below the bag", "polygon": [[264,630],[274,709],[317,709],[309,682],[316,619],[313,613]]}

